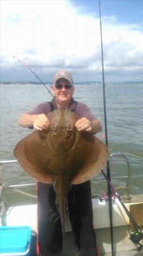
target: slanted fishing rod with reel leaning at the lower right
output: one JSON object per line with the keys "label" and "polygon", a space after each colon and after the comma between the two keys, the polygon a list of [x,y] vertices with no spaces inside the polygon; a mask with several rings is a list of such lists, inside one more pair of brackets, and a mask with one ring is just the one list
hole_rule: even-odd
{"label": "slanted fishing rod with reel leaning at the lower right", "polygon": [[116,197],[118,198],[120,204],[122,204],[122,207],[124,208],[125,212],[127,213],[129,220],[131,220],[133,226],[136,229],[136,232],[131,234],[131,236],[129,237],[129,239],[133,242],[133,243],[137,243],[138,245],[140,245],[138,247],[138,250],[143,250],[143,245],[141,245],[140,241],[143,239],[143,233],[141,232],[140,228],[138,227],[135,219],[133,218],[133,216],[131,215],[131,213],[129,212],[129,210],[125,207],[122,199],[120,198],[118,192],[116,191],[116,189],[114,188],[114,185],[112,185],[111,181],[107,178],[107,175],[105,174],[105,172],[103,170],[101,170],[103,176],[105,177],[105,179],[107,180],[107,183],[110,185],[112,191],[115,193]]}

